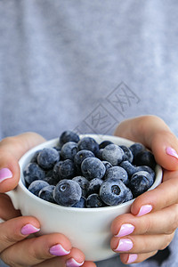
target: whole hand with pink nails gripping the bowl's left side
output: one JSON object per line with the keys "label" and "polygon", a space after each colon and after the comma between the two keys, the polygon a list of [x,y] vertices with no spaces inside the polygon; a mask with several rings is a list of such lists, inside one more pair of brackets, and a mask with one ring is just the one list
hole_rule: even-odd
{"label": "whole hand with pink nails gripping the bowl's left side", "polygon": [[18,161],[21,156],[44,141],[39,134],[26,133],[0,142],[0,218],[4,220],[0,223],[0,258],[12,267],[95,267],[93,262],[85,262],[85,255],[71,247],[69,239],[62,233],[30,236],[39,231],[40,223],[35,217],[21,216],[20,211],[12,206],[11,199],[4,194],[19,182]]}

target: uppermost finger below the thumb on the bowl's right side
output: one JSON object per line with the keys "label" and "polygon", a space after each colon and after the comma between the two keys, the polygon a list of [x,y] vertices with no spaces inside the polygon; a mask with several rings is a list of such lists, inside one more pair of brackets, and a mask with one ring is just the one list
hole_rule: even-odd
{"label": "uppermost finger below the thumb on the bowl's right side", "polygon": [[148,214],[166,206],[178,203],[178,171],[165,172],[163,183],[156,189],[149,190],[134,200],[131,213],[134,215]]}

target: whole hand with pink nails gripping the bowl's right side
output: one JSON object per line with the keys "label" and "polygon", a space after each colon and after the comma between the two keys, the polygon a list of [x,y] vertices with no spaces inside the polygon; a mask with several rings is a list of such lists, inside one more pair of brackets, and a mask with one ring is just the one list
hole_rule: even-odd
{"label": "whole hand with pink nails gripping the bowl's right side", "polygon": [[125,120],[115,134],[142,142],[164,169],[158,188],[136,198],[131,213],[118,216],[111,225],[110,246],[121,261],[141,263],[166,248],[178,227],[178,140],[155,116]]}

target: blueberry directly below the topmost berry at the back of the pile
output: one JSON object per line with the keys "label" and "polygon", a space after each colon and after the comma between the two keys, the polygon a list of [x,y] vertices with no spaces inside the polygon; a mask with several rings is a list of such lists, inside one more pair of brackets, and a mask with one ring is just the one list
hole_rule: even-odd
{"label": "blueberry directly below the topmost berry at the back of the pile", "polygon": [[72,159],[77,154],[77,142],[66,142],[61,147],[61,158],[63,159]]}

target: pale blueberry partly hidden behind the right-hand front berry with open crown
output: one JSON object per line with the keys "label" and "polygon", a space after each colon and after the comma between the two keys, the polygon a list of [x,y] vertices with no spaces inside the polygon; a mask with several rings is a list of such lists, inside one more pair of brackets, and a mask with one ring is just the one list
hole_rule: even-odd
{"label": "pale blueberry partly hidden behind the right-hand front berry with open crown", "polygon": [[118,179],[122,182],[128,184],[128,174],[126,173],[125,169],[121,166],[112,166],[110,167],[106,174],[104,175],[105,180],[107,179]]}

